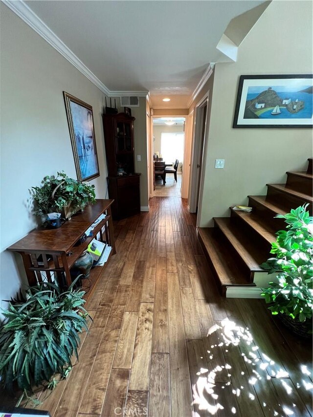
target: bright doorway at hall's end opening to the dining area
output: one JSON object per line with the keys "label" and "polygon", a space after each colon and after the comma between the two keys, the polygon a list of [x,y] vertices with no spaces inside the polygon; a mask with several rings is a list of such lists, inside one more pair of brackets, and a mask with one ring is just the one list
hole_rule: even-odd
{"label": "bright doorway at hall's end opening to the dining area", "polygon": [[[181,197],[181,177],[184,165],[185,117],[154,117],[152,124],[152,159],[164,162],[173,169],[178,159],[177,173],[166,173],[165,183],[161,176],[152,174],[152,196]],[[153,162],[153,163],[154,163]],[[175,180],[175,176],[177,181]]]}

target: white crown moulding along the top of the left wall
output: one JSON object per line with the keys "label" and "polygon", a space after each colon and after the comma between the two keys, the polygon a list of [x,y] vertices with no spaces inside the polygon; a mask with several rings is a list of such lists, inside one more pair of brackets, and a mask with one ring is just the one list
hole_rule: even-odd
{"label": "white crown moulding along the top of the left wall", "polygon": [[145,97],[148,91],[111,91],[107,88],[82,61],[64,44],[61,39],[43,22],[23,0],[1,0],[9,9],[18,15],[45,41],[54,47],[64,58],[75,66],[85,77],[109,97],[139,96]]}

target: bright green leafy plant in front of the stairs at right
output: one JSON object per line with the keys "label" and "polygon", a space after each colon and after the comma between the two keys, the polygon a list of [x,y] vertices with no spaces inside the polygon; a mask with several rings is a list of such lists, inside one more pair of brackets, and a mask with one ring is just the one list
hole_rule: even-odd
{"label": "bright green leafy plant in front of the stairs at right", "polygon": [[313,308],[313,218],[308,204],[277,218],[285,219],[287,230],[279,230],[270,253],[276,255],[261,265],[269,274],[278,273],[278,282],[263,288],[272,314],[286,314],[304,322],[312,319]]}

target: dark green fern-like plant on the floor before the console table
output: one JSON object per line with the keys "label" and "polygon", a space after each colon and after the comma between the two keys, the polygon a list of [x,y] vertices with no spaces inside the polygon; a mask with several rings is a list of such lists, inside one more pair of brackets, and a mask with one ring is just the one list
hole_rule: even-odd
{"label": "dark green fern-like plant on the floor before the console table", "polygon": [[56,284],[42,283],[30,287],[24,299],[10,301],[0,326],[0,375],[6,387],[12,389],[16,381],[22,390],[53,388],[55,374],[66,377],[73,352],[78,358],[78,333],[87,330],[84,294],[72,285],[61,292]]}

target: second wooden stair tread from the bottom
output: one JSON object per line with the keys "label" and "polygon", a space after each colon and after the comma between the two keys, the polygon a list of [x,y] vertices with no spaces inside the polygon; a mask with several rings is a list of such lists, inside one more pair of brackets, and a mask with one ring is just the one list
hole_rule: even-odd
{"label": "second wooden stair tread from the bottom", "polygon": [[[213,218],[226,239],[232,244],[241,259],[252,272],[264,272],[260,264],[266,261],[259,248],[228,217]],[[275,239],[274,239],[275,240]]]}

